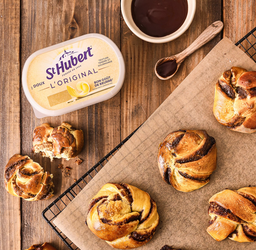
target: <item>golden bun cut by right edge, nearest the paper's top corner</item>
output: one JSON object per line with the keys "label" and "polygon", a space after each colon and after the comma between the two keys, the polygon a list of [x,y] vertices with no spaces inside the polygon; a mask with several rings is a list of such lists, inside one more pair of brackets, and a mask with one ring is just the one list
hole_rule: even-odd
{"label": "golden bun cut by right edge, nearest the paper's top corner", "polygon": [[256,71],[232,67],[215,85],[213,114],[220,124],[243,132],[256,131]]}

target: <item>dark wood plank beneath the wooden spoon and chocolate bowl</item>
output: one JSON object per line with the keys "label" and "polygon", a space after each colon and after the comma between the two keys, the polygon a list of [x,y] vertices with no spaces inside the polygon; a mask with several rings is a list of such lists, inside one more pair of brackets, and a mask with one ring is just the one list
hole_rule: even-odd
{"label": "dark wood plank beneath the wooden spoon and chocolate bowl", "polygon": [[212,22],[221,20],[221,1],[196,2],[196,14],[190,27],[169,43],[154,44],[141,40],[129,30],[122,19],[121,51],[127,72],[121,90],[122,139],[142,124],[220,41],[221,34],[190,55],[170,80],[163,81],[156,77],[154,67],[158,59],[184,50]]}

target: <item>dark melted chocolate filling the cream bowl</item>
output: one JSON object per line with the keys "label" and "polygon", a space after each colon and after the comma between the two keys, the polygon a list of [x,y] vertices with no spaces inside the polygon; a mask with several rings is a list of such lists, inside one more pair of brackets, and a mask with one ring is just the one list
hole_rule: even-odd
{"label": "dark melted chocolate filling the cream bowl", "polygon": [[132,0],[132,19],[146,35],[163,37],[177,31],[188,15],[188,0]]}

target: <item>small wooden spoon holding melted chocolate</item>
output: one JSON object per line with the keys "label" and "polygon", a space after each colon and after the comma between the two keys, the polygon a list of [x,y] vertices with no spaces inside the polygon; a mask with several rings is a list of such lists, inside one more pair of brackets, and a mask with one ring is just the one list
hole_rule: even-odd
{"label": "small wooden spoon holding melted chocolate", "polygon": [[213,37],[220,33],[222,28],[223,23],[216,21],[207,27],[187,49],[174,56],[164,57],[158,60],[155,66],[157,77],[162,80],[170,79],[177,72],[185,58],[201,48],[205,43],[211,41]]}

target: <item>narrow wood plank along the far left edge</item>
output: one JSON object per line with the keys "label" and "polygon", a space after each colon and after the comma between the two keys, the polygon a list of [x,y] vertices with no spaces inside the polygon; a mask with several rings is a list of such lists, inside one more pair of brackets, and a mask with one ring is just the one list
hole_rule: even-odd
{"label": "narrow wood plank along the far left edge", "polygon": [[4,167],[20,153],[20,1],[0,2],[0,249],[20,249],[20,198],[4,188]]}

